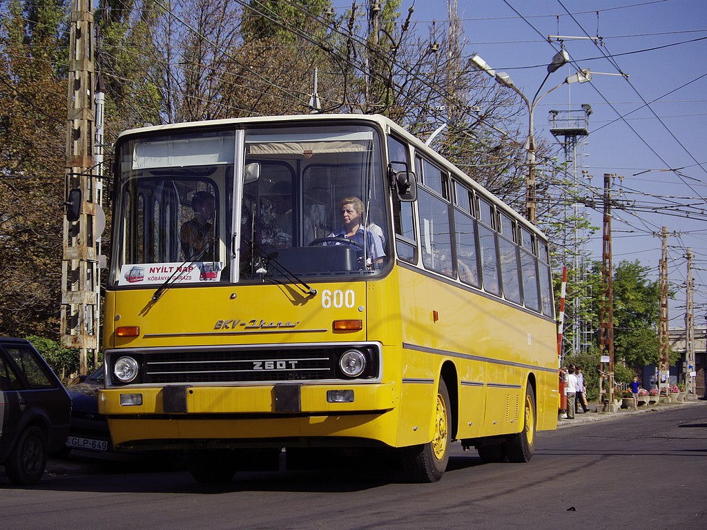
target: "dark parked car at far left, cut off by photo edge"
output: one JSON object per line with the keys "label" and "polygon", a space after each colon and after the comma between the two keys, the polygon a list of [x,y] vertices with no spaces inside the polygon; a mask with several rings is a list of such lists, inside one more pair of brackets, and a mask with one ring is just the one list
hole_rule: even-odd
{"label": "dark parked car at far left, cut off by photo edge", "polygon": [[66,444],[69,394],[32,344],[0,337],[0,397],[0,464],[13,483],[37,483]]}

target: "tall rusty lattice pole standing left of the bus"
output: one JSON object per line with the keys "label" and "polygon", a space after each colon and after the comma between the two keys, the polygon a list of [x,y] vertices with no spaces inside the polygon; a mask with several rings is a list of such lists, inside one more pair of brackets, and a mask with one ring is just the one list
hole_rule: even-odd
{"label": "tall rusty lattice pole standing left of the bus", "polygon": [[62,343],[79,351],[79,372],[98,349],[98,262],[93,171],[93,13],[71,2],[66,113],[66,218],[62,261]]}

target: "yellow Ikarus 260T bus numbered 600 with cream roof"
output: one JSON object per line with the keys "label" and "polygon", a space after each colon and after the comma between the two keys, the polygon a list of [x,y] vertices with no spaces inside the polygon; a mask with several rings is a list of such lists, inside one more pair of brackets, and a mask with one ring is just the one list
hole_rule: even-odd
{"label": "yellow Ikarus 260T bus numbered 600 with cream roof", "polygon": [[113,206],[117,449],[185,449],[213,482],[361,448],[432,482],[452,442],[522,462],[556,428],[546,238],[390,119],[126,131]]}

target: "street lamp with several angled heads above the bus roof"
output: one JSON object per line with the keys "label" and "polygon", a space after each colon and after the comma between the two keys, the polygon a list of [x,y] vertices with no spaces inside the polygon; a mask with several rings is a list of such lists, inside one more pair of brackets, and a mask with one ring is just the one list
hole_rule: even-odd
{"label": "street lamp with several angled heads above the bus roof", "polygon": [[586,83],[587,81],[592,80],[592,72],[590,69],[583,69],[575,73],[573,76],[569,76],[566,78],[562,83],[560,83],[558,86],[554,86],[550,90],[548,90],[546,93],[539,95],[540,90],[542,90],[542,87],[545,86],[545,82],[547,81],[547,78],[549,78],[550,74],[553,73],[554,71],[557,71],[561,66],[564,64],[567,64],[569,62],[570,58],[565,49],[561,49],[559,52],[555,54],[555,56],[552,58],[552,61],[550,64],[547,65],[547,75],[545,78],[542,80],[542,83],[540,83],[539,88],[537,89],[537,92],[535,93],[534,97],[532,100],[528,100],[528,98],[525,97],[525,94],[520,91],[520,89],[515,86],[513,83],[513,80],[510,78],[508,73],[506,72],[498,72],[496,73],[496,70],[492,69],[491,66],[489,66],[484,59],[481,59],[477,54],[472,55],[471,59],[469,59],[469,64],[472,66],[474,70],[477,71],[482,71],[486,72],[489,74],[489,76],[493,77],[496,80],[496,83],[499,85],[506,86],[510,89],[512,89],[515,93],[520,95],[520,98],[525,102],[525,105],[528,107],[528,116],[529,116],[529,126],[528,126],[528,139],[527,139],[527,146],[526,146],[526,163],[528,167],[528,175],[527,175],[527,180],[525,183],[525,218],[527,220],[530,220],[531,223],[535,224],[536,220],[536,213],[535,213],[535,139],[533,136],[533,112],[535,110],[535,105],[537,105],[537,102],[539,100],[542,100],[546,95],[551,93],[553,90],[556,88],[560,88],[564,84],[568,83]]}

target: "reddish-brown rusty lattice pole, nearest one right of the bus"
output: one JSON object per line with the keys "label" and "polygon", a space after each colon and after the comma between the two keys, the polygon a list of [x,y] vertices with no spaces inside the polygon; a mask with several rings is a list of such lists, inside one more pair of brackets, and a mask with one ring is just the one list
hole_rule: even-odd
{"label": "reddish-brown rusty lattice pole, nearest one right of the bus", "polygon": [[[612,265],[612,182],[611,173],[604,173],[604,230],[602,235],[602,310],[599,353],[602,372],[600,384],[604,378],[607,388],[604,393],[604,411],[614,412],[614,271]],[[606,370],[605,370],[606,369]]]}

